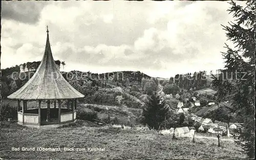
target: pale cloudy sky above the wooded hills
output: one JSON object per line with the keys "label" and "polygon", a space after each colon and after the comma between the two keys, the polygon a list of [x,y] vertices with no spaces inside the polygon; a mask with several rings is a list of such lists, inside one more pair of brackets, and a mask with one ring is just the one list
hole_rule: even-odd
{"label": "pale cloudy sky above the wooded hills", "polygon": [[2,2],[1,68],[40,61],[48,25],[53,57],[66,62],[65,71],[170,77],[220,69],[227,43],[221,24],[233,21],[229,7],[218,1]]}

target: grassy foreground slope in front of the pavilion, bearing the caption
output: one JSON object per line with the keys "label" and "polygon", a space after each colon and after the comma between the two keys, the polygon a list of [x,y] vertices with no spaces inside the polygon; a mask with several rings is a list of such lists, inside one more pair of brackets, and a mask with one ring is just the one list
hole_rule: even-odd
{"label": "grassy foreground slope in front of the pavilion, bearing the caption", "polygon": [[[85,125],[85,124],[83,124]],[[16,124],[3,125],[3,159],[242,159],[246,155],[233,142],[215,139],[172,140],[156,131],[113,128],[110,126],[70,126],[56,129],[27,129]],[[60,147],[61,151],[12,151],[11,147]],[[86,151],[63,151],[64,147]],[[88,151],[88,147],[105,151]]]}

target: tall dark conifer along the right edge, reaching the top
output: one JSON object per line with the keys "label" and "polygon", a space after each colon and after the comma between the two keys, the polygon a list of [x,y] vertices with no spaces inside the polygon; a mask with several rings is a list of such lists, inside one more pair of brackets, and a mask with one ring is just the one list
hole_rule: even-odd
{"label": "tall dark conifer along the right edge, reaching the top", "polygon": [[[236,19],[228,26],[223,26],[226,36],[234,47],[226,45],[223,52],[225,76],[215,77],[212,85],[217,89],[219,100],[228,97],[233,105],[232,112],[242,117],[244,127],[241,129],[237,144],[248,154],[254,157],[255,139],[255,0],[247,1],[242,7],[231,1],[228,10]],[[232,78],[227,78],[227,76]],[[224,93],[223,90],[228,91]]]}

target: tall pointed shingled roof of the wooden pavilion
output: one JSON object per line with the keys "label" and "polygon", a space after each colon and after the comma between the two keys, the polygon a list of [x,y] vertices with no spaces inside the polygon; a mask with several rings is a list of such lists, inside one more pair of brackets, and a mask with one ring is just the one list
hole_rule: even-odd
{"label": "tall pointed shingled roof of the wooden pavilion", "polygon": [[53,60],[47,27],[44,57],[35,74],[19,90],[9,95],[10,99],[71,99],[84,97],[62,76]]}

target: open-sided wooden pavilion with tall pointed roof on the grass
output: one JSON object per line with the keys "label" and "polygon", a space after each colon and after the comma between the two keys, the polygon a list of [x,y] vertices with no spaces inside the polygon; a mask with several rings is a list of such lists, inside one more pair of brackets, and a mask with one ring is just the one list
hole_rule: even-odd
{"label": "open-sided wooden pavilion with tall pointed roof on the grass", "polygon": [[[18,123],[27,126],[67,124],[76,120],[77,98],[84,97],[62,76],[52,56],[47,26],[46,48],[35,74],[19,90],[8,98],[17,100]],[[67,107],[61,108],[61,101],[67,100]],[[23,101],[22,107],[20,102]],[[27,108],[28,101],[37,101],[37,106]],[[41,108],[41,102],[47,108]],[[58,102],[58,108],[56,106]],[[50,107],[51,102],[54,107]],[[37,103],[36,103],[37,104]]]}

